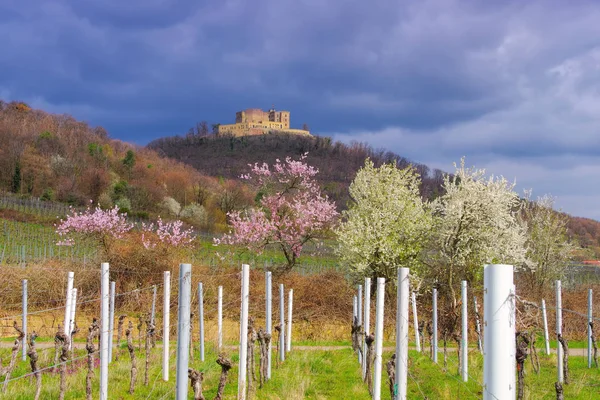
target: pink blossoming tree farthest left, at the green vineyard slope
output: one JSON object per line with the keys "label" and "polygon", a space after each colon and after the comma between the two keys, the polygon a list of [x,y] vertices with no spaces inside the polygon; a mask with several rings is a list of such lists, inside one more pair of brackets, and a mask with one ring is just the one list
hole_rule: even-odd
{"label": "pink blossoming tree farthest left, at the green vineyard slope", "polygon": [[113,242],[122,239],[133,228],[133,224],[127,222],[127,215],[120,213],[117,206],[110,210],[88,207],[82,212],[71,209],[66,219],[61,219],[55,226],[61,237],[57,245],[72,246],[75,236],[83,235],[98,240],[107,254]]}

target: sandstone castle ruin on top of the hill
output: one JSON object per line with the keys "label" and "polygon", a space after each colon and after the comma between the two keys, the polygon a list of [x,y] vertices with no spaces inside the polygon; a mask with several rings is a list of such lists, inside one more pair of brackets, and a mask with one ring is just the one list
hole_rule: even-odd
{"label": "sandstone castle ruin on top of the hill", "polygon": [[269,111],[259,108],[238,111],[235,113],[235,124],[219,125],[219,134],[244,136],[263,135],[270,132],[310,135],[310,132],[304,129],[291,129],[290,112],[275,111],[275,107]]}

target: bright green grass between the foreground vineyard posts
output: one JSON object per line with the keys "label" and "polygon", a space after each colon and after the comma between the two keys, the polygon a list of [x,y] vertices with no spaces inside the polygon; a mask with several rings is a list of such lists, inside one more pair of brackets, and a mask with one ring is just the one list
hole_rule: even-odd
{"label": "bright green grass between the foreground vineyard posts", "polygon": [[[292,350],[282,365],[274,365],[273,378],[263,388],[250,392],[250,399],[369,399],[366,384],[361,380],[361,371],[356,355],[350,348],[340,350],[321,350],[321,343],[313,350]],[[343,345],[345,343],[336,343]],[[208,346],[211,347],[211,346]],[[130,359],[126,349],[121,349],[121,359],[113,362],[109,369],[110,399],[172,399],[175,389],[175,349],[171,351],[170,381],[162,381],[160,369],[162,349],[157,346],[152,350],[149,369],[149,384],[144,382],[145,358],[143,351],[136,352],[138,380],[136,391],[128,394],[130,379]],[[41,367],[51,365],[54,350],[40,350]],[[258,349],[257,349],[258,353]],[[1,350],[4,365],[9,358],[9,350]],[[77,356],[84,353],[78,350]],[[235,351],[230,352],[231,359],[237,362]],[[387,386],[385,363],[391,356],[384,354],[384,372],[382,373],[382,399],[390,399]],[[207,399],[214,398],[220,374],[220,367],[215,363],[217,353],[214,348],[207,349],[206,361],[201,363],[198,353],[194,355],[191,367],[205,373],[203,389]],[[273,360],[275,362],[276,357]],[[258,356],[256,357],[258,363]],[[535,374],[529,360],[526,362],[525,399],[554,399],[554,381],[556,379],[554,355],[541,357],[541,372]],[[470,354],[470,379],[463,383],[458,375],[456,355],[452,352],[448,359],[447,371],[443,368],[443,357],[440,354],[439,364],[434,364],[424,354],[410,352],[409,358],[409,399],[480,399],[482,397],[481,382],[483,359],[474,350]],[[69,367],[67,399],[85,398],[86,360],[75,363],[76,368]],[[600,370],[587,369],[583,357],[571,357],[571,384],[565,385],[566,399],[596,399],[600,397]],[[13,377],[23,376],[29,372],[29,363],[19,362]],[[94,397],[98,393],[98,369],[95,370]],[[257,375],[258,376],[258,375]],[[58,374],[47,372],[43,376],[42,399],[58,397]],[[0,395],[4,399],[31,399],[35,393],[35,381],[29,378],[9,382],[6,393]],[[191,389],[189,398],[192,398]],[[237,367],[229,372],[229,380],[225,390],[225,398],[236,398]]]}

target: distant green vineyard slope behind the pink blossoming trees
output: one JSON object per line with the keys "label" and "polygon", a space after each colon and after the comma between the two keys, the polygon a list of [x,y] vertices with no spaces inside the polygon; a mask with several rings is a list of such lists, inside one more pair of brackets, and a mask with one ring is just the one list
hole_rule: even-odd
{"label": "distant green vineyard slope behind the pink blossoming trees", "polygon": [[[0,214],[0,265],[24,266],[49,260],[77,262],[84,265],[99,263],[97,243],[84,237],[79,238],[74,246],[58,246],[59,235],[54,224],[64,218],[71,210],[83,211],[85,208],[70,208],[64,204],[42,201],[37,198],[19,198],[11,194],[0,195],[0,212],[11,212],[2,218]],[[142,220],[128,218],[136,227]],[[33,222],[32,222],[33,221]],[[194,230],[197,245],[190,253],[189,259],[194,264],[208,265],[215,269],[223,266],[250,264],[253,268],[271,268],[282,262],[281,255],[267,250],[260,256],[240,251],[236,246],[229,246],[223,251],[213,246],[214,234]],[[343,272],[330,244],[321,246],[307,245],[306,252],[310,257],[303,259],[297,269],[303,274],[323,273],[327,271]]]}

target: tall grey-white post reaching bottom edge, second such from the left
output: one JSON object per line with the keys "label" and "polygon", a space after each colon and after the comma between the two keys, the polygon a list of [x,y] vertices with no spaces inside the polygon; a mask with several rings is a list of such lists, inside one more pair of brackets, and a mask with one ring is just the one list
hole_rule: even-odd
{"label": "tall grey-white post reaching bottom edge, second such from the left", "polygon": [[177,400],[187,400],[190,363],[190,312],[192,301],[192,265],[179,265],[179,304],[177,310]]}

